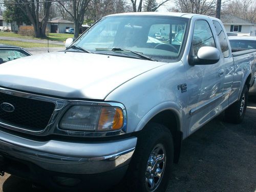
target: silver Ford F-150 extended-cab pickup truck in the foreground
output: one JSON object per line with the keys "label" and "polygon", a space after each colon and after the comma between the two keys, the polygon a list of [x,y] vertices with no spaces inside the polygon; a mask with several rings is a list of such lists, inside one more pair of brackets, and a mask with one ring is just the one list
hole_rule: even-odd
{"label": "silver Ford F-150 extended-cab pickup truck in the foreground", "polygon": [[244,118],[255,50],[232,53],[217,18],[109,15],[66,46],[0,66],[2,174],[164,191],[183,139],[223,111]]}

